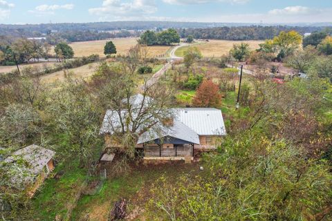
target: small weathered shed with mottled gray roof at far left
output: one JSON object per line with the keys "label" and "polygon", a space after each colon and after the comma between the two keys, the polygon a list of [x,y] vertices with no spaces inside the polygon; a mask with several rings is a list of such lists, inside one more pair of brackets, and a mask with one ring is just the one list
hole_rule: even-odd
{"label": "small weathered shed with mottled gray roof at far left", "polygon": [[5,166],[14,169],[10,174],[10,183],[17,189],[25,189],[32,197],[54,169],[54,151],[35,144],[21,148],[7,157]]}

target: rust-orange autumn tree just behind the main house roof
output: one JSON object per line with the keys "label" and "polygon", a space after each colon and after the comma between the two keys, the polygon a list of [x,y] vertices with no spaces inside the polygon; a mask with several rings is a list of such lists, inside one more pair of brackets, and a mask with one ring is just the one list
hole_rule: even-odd
{"label": "rust-orange autumn tree just behind the main house roof", "polygon": [[196,91],[192,104],[199,107],[219,107],[221,95],[218,85],[214,84],[212,80],[203,81]]}

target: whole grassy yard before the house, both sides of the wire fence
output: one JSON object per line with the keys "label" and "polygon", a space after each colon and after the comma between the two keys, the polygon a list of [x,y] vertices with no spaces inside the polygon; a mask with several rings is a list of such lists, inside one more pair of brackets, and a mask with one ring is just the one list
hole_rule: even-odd
{"label": "whole grassy yard before the house, both sides of the wire fence", "polygon": [[[108,178],[95,195],[82,195],[73,210],[71,220],[89,217],[89,220],[107,220],[113,204],[121,199],[128,200],[127,211],[143,211],[149,200],[149,186],[162,175],[172,182],[183,173],[192,175],[201,173],[201,164],[167,162],[163,164],[133,164],[127,175]],[[57,166],[61,171],[62,166]],[[49,178],[33,200],[35,220],[55,220],[64,217],[67,209],[73,205],[73,198],[85,179],[84,169],[66,169],[58,180]],[[142,218],[142,217],[140,217]],[[142,219],[144,220],[144,218]]]}

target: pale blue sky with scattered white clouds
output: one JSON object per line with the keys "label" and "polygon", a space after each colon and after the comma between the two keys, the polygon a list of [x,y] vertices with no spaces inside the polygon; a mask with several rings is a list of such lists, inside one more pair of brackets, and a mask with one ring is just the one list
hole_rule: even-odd
{"label": "pale blue sky with scattered white clouds", "polygon": [[0,23],[332,22],[331,0],[0,0]]}

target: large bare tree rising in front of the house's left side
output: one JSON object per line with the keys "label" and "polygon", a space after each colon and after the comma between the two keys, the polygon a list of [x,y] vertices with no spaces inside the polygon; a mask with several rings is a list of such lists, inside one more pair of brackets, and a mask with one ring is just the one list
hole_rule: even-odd
{"label": "large bare tree rising in front of the house's left side", "polygon": [[145,131],[158,132],[158,123],[172,115],[169,110],[172,88],[165,84],[147,84],[142,93],[136,94],[136,85],[130,74],[118,74],[109,77],[102,86],[98,97],[107,111],[107,124],[102,131],[109,133],[116,144],[115,151],[133,157],[138,137]]}

